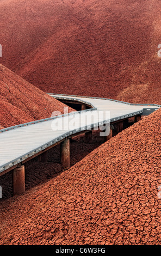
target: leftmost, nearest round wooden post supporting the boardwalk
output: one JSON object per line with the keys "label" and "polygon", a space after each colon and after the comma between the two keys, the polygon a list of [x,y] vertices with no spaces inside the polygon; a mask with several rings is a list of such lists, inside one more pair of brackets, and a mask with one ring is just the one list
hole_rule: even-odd
{"label": "leftmost, nearest round wooden post supporting the boardwalk", "polygon": [[25,192],[24,165],[19,165],[13,170],[13,194]]}

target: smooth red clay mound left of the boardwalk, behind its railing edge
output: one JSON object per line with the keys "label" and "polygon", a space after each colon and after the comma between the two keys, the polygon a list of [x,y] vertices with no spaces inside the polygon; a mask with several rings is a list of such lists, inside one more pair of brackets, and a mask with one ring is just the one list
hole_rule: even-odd
{"label": "smooth red clay mound left of the boardwalk, behind its railing edge", "polygon": [[[63,114],[63,103],[23,80],[0,65],[0,129],[51,117],[53,111]],[[74,109],[69,108],[69,112]]]}

